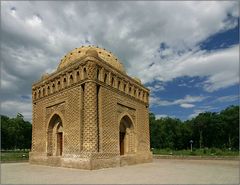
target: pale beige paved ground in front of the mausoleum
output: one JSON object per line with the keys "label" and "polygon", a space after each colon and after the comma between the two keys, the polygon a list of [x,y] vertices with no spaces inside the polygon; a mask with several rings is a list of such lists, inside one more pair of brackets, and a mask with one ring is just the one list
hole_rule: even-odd
{"label": "pale beige paved ground in front of the mausoleum", "polygon": [[3,184],[239,184],[239,161],[154,159],[153,163],[79,170],[1,164]]}

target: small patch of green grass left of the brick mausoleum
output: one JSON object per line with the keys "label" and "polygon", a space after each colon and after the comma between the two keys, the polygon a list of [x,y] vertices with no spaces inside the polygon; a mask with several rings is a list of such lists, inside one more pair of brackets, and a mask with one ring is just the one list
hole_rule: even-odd
{"label": "small patch of green grass left of the brick mausoleum", "polygon": [[27,151],[1,151],[1,162],[26,161],[29,159]]}

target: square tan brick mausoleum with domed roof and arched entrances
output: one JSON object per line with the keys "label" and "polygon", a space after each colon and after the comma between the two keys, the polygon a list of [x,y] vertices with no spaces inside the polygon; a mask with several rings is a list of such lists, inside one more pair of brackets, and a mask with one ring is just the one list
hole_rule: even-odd
{"label": "square tan brick mausoleum with domed roof and arched entrances", "polygon": [[149,90],[109,51],[82,46],[32,86],[31,164],[99,169],[152,161]]}

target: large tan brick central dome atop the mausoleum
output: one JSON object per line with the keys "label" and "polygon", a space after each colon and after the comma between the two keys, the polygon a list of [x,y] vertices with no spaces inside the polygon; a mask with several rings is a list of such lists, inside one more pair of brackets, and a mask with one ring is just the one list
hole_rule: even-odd
{"label": "large tan brick central dome atop the mausoleum", "polygon": [[70,65],[71,63],[74,63],[74,61],[86,55],[99,57],[115,69],[126,73],[122,63],[118,60],[116,56],[114,56],[111,52],[96,46],[82,46],[80,48],[75,48],[74,50],[70,51],[67,55],[64,56],[63,59],[61,59],[61,62],[58,65],[58,70]]}

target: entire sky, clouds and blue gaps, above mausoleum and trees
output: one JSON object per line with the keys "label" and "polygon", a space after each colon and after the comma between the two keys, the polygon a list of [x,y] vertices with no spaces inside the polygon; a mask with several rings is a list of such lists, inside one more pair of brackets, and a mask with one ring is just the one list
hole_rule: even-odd
{"label": "entire sky, clouds and blue gaps, above mausoleum and trees", "polygon": [[157,118],[237,105],[238,1],[1,1],[1,114],[31,121],[31,85],[82,45],[151,90]]}

